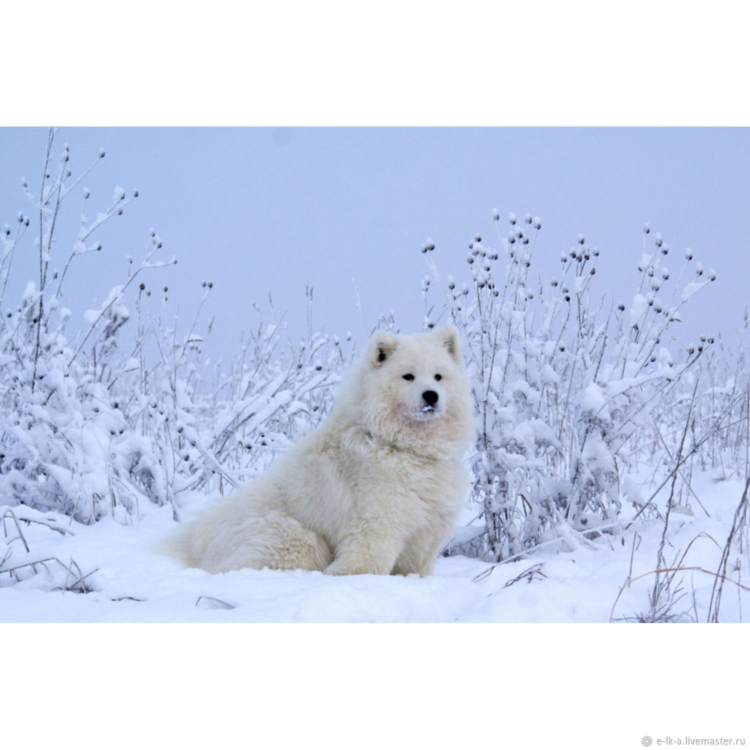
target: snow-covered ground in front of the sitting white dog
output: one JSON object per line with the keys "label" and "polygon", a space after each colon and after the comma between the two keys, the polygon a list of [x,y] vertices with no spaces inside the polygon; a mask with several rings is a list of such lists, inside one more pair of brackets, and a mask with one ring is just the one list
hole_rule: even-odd
{"label": "snow-covered ground in front of the sitting white dog", "polygon": [[[697,502],[693,515],[671,515],[667,562],[702,534],[682,565],[717,570],[742,487],[738,477],[717,481],[703,475],[694,482],[710,517]],[[19,519],[23,538],[9,511]],[[631,553],[632,578],[654,570],[662,532],[661,522],[637,520],[624,544],[608,535],[595,544],[581,539],[572,551],[547,548],[491,571],[475,559],[441,558],[426,578],[249,569],[211,575],[182,568],[157,551],[175,528],[169,508],[141,508],[135,526],[112,518],[83,526],[23,505],[0,505],[1,516],[2,622],[607,622],[631,570]],[[633,553],[636,532],[640,541],[635,538]],[[744,585],[747,554],[739,571],[737,558],[736,552],[730,556],[727,576]],[[34,565],[35,574],[30,566],[18,568],[45,559]],[[1,572],[10,568],[18,568],[20,582]],[[678,621],[704,622],[714,578],[700,571],[679,577],[685,596],[672,612],[685,613]],[[648,610],[653,583],[646,575],[625,589],[613,619]],[[747,619],[750,594],[725,584],[721,621],[738,622],[743,613]]]}

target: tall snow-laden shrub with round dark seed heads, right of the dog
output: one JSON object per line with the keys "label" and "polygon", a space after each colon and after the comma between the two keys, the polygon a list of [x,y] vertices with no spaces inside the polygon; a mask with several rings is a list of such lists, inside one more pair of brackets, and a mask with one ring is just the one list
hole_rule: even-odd
{"label": "tall snow-laden shrub with round dark seed heads, right of the dog", "polygon": [[[497,211],[493,218],[498,227]],[[556,261],[559,276],[544,278],[535,267],[553,261],[539,258],[541,221],[510,214],[508,223],[497,249],[472,239],[468,283],[441,281],[434,245],[423,248],[444,300],[431,304],[425,278],[425,328],[447,318],[460,329],[477,412],[472,502],[483,523],[463,529],[449,551],[493,560],[559,538],[617,533],[622,502],[643,502],[628,469],[645,456],[655,413],[667,431],[658,454],[669,454],[684,416],[682,381],[712,344],[673,353],[667,335],[682,306],[715,279],[689,252],[672,279],[657,235],[651,252],[644,241],[626,307],[595,293],[599,251],[583,236]]]}

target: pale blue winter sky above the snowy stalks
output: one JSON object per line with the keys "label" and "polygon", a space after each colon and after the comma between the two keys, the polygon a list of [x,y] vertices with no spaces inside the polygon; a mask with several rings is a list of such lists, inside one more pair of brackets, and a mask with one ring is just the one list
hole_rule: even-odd
{"label": "pale blue winter sky above the snowy stalks", "polygon": [[[0,130],[0,222],[29,211],[20,178],[38,189],[45,140],[40,128]],[[107,149],[86,178],[92,207],[108,205],[115,185],[140,193],[103,227],[104,251],[77,259],[68,305],[80,314],[103,299],[153,226],[179,263],[145,281],[169,285],[185,326],[200,281],[214,281],[206,309],[226,356],[256,320],[251,302],[263,305],[269,291],[302,335],[306,281],[314,323],[329,332],[364,338],[355,283],[366,332],[391,309],[402,329],[419,329],[422,244],[434,240],[443,275],[466,278],[472,236],[493,244],[493,208],[503,231],[508,211],[541,217],[543,275],[559,274],[560,251],[583,233],[601,250],[596,288],[626,302],[644,221],[670,245],[670,270],[689,245],[718,281],[686,308],[685,338],[731,334],[748,301],[746,128],[63,128],[55,155],[65,142],[74,173]],[[76,196],[68,216],[79,209]],[[58,257],[67,257],[75,226],[61,229]],[[16,297],[35,277],[28,244],[24,255],[14,260]]]}

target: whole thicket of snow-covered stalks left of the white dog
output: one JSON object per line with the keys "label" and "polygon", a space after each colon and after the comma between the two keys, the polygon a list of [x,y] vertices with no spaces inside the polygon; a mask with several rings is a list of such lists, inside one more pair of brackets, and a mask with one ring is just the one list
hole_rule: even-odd
{"label": "whole thicket of snow-covered stalks left of the white dog", "polygon": [[[201,357],[211,324],[200,335],[196,316],[179,331],[178,320],[168,322],[166,312],[154,316],[148,307],[148,272],[176,263],[158,260],[162,241],[153,230],[142,261],[128,259],[124,283],[87,311],[86,328],[68,338],[68,273],[78,256],[101,250],[96,230],[121,215],[138,191],[128,197],[116,187],[109,207],[89,219],[91,193],[80,184],[104,149],[75,178],[68,146],[52,166],[54,139],[50,130],[39,196],[23,184],[34,218],[18,214],[15,229],[3,233],[0,305],[13,255],[34,233],[40,271],[18,305],[2,308],[0,497],[84,523],[105,514],[128,520],[141,502],[170,503],[176,514],[180,493],[238,484],[299,431],[317,425],[348,355],[338,339],[311,331],[294,347],[282,327],[260,323],[229,374],[208,373]],[[80,229],[61,257],[58,218],[81,189]],[[202,284],[201,308],[212,287]],[[164,286],[165,302],[167,293]],[[130,320],[133,305],[136,320]]]}

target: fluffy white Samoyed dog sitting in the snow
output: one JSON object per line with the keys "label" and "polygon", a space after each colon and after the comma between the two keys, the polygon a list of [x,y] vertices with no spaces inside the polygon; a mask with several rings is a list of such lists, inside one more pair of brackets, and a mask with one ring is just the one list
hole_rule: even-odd
{"label": "fluffy white Samoyed dog sitting in the snow", "polygon": [[429,575],[468,477],[469,385],[458,332],[376,333],[326,422],[172,541],[217,573]]}

